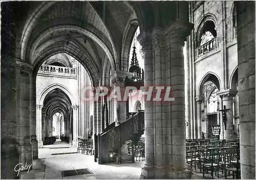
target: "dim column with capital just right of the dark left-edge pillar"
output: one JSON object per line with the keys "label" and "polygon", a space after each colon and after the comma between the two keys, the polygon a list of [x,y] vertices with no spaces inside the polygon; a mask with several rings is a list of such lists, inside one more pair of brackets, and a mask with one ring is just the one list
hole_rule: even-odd
{"label": "dim column with capital just right of the dark left-edge pillar", "polygon": [[32,145],[30,132],[30,75],[31,65],[17,60],[17,140],[19,163],[21,166],[32,164]]}

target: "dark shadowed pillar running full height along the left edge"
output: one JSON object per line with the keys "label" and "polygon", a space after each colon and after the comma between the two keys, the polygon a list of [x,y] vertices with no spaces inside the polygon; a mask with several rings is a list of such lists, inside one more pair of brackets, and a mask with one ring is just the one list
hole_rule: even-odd
{"label": "dark shadowed pillar running full height along the left edge", "polygon": [[[19,12],[11,8],[9,2],[1,3],[1,10],[5,13],[1,15],[2,32],[8,35],[1,36],[1,178],[20,178],[20,173],[14,171],[19,161],[17,150],[17,119],[19,118],[19,107],[17,97],[19,97],[16,77],[16,54],[17,48],[17,18]],[[10,35],[12,34],[12,35]],[[16,167],[17,168],[17,167]],[[18,175],[17,175],[18,174]]]}

